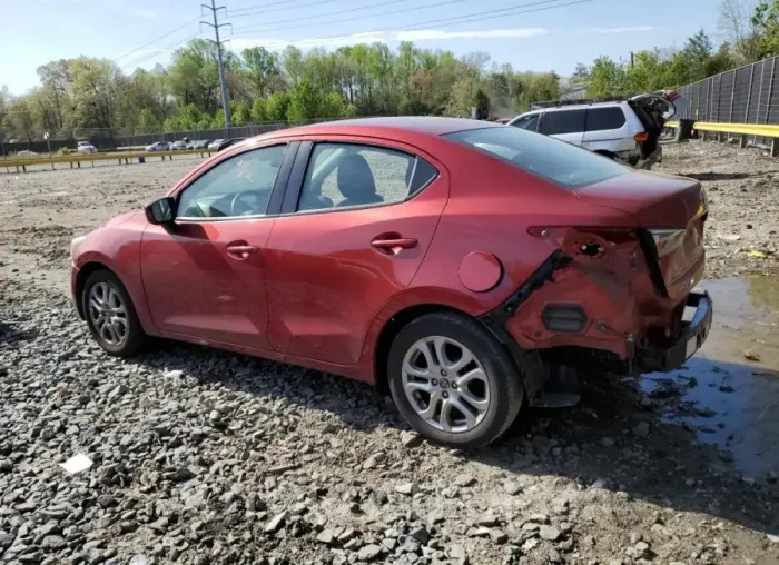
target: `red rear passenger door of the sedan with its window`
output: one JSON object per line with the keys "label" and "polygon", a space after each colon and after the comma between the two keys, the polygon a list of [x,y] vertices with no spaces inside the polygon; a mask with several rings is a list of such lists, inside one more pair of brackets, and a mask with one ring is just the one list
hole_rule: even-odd
{"label": "red rear passenger door of the sedan with its window", "polygon": [[266,254],[270,344],[355,364],[371,323],[414,278],[447,198],[446,169],[402,142],[302,142]]}

